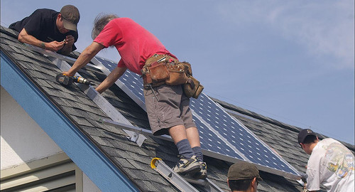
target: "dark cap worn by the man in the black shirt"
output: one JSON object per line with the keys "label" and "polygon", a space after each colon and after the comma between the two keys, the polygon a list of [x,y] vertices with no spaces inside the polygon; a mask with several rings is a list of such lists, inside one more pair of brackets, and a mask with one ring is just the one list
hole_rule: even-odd
{"label": "dark cap worn by the man in the black shirt", "polygon": [[67,30],[77,31],[77,23],[80,20],[79,10],[76,6],[66,5],[60,10],[63,18],[63,26]]}

